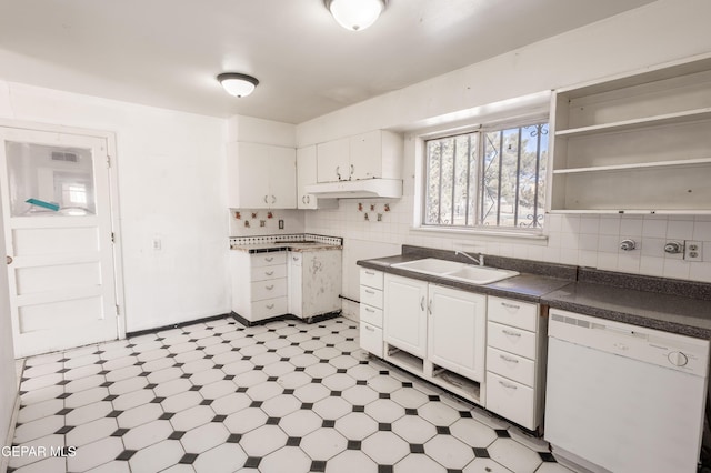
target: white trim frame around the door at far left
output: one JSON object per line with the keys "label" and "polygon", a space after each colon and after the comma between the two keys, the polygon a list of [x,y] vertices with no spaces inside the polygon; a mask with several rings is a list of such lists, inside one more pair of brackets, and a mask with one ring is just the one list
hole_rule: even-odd
{"label": "white trim frame around the door at far left", "polygon": [[[111,209],[111,232],[113,234],[113,280],[117,304],[117,336],[126,339],[126,300],[123,293],[123,251],[121,238],[121,219],[119,208],[119,181],[116,133],[112,131],[93,130],[79,127],[64,127],[53,123],[41,123],[26,120],[12,120],[0,118],[0,127],[19,130],[44,131],[50,133],[78,134],[104,139],[107,141],[107,154],[109,155],[109,200]],[[1,199],[1,195],[0,195]]]}

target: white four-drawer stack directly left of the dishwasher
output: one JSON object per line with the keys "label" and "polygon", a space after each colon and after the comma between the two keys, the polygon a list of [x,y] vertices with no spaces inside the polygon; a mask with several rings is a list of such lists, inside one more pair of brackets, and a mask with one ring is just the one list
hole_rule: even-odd
{"label": "white four-drawer stack directly left of the dishwasher", "polygon": [[538,304],[489,296],[485,407],[529,430],[543,420],[545,319]]}

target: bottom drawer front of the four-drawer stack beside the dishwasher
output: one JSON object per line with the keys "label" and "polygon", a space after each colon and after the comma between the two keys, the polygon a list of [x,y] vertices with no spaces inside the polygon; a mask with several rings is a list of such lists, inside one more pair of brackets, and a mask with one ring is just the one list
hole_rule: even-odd
{"label": "bottom drawer front of the four-drawer stack beside the dishwasher", "polygon": [[533,390],[498,374],[487,372],[487,409],[534,430],[535,396]]}

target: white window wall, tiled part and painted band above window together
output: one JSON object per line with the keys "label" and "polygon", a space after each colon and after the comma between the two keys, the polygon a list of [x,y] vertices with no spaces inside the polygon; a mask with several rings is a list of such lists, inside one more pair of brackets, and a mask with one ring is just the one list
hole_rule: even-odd
{"label": "white window wall, tiled part and painted band above window together", "polygon": [[[708,0],[660,0],[299,124],[300,147],[375,128],[408,131],[404,197],[392,203],[392,211],[382,222],[365,222],[352,201],[341,201],[339,210],[307,213],[308,232],[344,238],[346,295],[357,298],[357,284],[348,276],[357,274],[357,255],[369,249],[382,255],[397,253],[392,250],[401,243],[711,282],[711,221],[707,217],[550,215],[548,242],[410,229],[414,203],[413,130],[488,103],[709,52],[709,18]],[[625,236],[637,238],[641,250],[619,252],[619,240]],[[704,262],[664,256],[660,245],[668,238],[704,241]]]}

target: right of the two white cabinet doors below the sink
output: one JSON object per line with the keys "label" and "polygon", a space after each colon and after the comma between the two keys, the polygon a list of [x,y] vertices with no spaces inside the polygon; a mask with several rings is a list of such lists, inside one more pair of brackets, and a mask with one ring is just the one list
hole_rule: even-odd
{"label": "right of the two white cabinet doors below the sink", "polygon": [[484,379],[487,296],[430,285],[428,358],[474,381]]}

